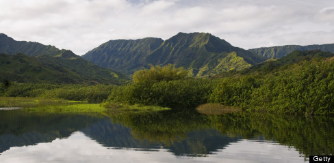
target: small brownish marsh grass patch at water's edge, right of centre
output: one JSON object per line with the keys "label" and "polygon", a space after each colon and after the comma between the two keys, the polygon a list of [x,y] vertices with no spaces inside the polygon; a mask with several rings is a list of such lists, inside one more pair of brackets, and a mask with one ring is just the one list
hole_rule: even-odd
{"label": "small brownish marsh grass patch at water's edge, right of centre", "polygon": [[226,106],[223,104],[201,104],[200,106],[197,106],[196,110],[198,113],[204,115],[222,115],[227,113],[241,112],[242,108]]}

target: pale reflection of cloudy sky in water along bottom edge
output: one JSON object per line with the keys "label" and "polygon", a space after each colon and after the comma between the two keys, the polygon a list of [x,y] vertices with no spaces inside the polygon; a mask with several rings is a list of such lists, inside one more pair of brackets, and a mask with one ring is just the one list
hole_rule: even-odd
{"label": "pale reflection of cloudy sky in water along bottom edge", "polygon": [[[272,155],[272,153],[276,153]],[[240,140],[207,157],[173,155],[167,149],[103,147],[82,132],[66,139],[34,146],[13,147],[1,153],[1,162],[303,162],[298,152],[277,143]],[[284,156],[284,157],[282,157]]]}

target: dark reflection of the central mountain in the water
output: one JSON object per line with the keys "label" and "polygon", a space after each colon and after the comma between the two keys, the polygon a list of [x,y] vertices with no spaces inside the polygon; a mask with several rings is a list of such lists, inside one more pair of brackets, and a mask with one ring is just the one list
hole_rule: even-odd
{"label": "dark reflection of the central mountain in the water", "polygon": [[[89,128],[81,130],[90,138],[97,140],[105,147],[113,148],[140,148],[161,149],[165,148],[175,155],[204,156],[212,154],[218,149],[223,149],[229,143],[237,142],[240,138],[223,136],[217,130],[194,130],[185,136],[159,140],[158,137],[135,138],[134,130],[118,123],[110,123],[110,120],[100,121]],[[135,134],[137,135],[137,134]],[[166,143],[167,142],[167,143]]]}

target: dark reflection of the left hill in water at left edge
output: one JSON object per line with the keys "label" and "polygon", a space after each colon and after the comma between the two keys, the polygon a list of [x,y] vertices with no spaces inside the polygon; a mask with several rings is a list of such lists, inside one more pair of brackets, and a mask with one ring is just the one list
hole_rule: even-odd
{"label": "dark reflection of the left hill in water at left edge", "polygon": [[73,132],[101,121],[91,115],[25,113],[21,110],[0,111],[0,153],[10,147],[47,143],[66,138]]}

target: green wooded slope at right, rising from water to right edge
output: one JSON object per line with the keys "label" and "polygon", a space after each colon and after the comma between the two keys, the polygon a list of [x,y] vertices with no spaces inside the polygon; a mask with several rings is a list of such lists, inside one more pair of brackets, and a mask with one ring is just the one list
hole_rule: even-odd
{"label": "green wooded slope at right, rising from water to right edge", "polygon": [[333,68],[332,53],[297,51],[240,77],[220,79],[209,102],[281,114],[331,115]]}

